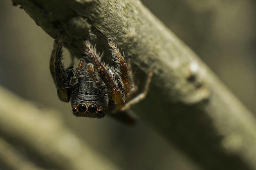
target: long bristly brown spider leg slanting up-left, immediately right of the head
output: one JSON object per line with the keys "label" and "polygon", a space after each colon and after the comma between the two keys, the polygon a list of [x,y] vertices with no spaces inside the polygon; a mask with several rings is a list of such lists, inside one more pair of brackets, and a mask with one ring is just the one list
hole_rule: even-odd
{"label": "long bristly brown spider leg slanting up-left, immediately right of the head", "polygon": [[103,82],[106,84],[108,90],[110,91],[115,105],[118,108],[124,106],[124,85],[120,81],[120,76],[115,72],[115,69],[104,64],[104,62],[101,62],[102,55],[97,53],[96,48],[93,47],[90,42],[85,41],[85,45],[87,48],[87,55],[90,56],[92,63],[97,67],[97,71]]}

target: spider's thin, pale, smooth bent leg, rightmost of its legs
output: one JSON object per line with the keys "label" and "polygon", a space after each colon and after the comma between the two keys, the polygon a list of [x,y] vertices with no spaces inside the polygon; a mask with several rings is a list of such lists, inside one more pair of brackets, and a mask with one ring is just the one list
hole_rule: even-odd
{"label": "spider's thin, pale, smooth bent leg, rightmost of its legs", "polygon": [[[146,84],[145,84],[145,87],[144,87],[144,91],[142,93],[140,93],[139,95],[137,95],[135,98],[131,99],[129,102],[127,102],[125,104],[125,106],[123,106],[120,111],[124,111],[124,110],[127,110],[129,109],[132,105],[134,104],[137,104],[139,103],[141,100],[143,100],[147,93],[148,93],[148,88],[149,88],[149,85],[150,85],[150,82],[151,82],[151,79],[152,79],[152,76],[153,76],[153,70],[151,70],[149,73],[148,73],[148,77],[147,77],[147,80],[146,80]],[[114,110],[115,111],[115,110]]]}

